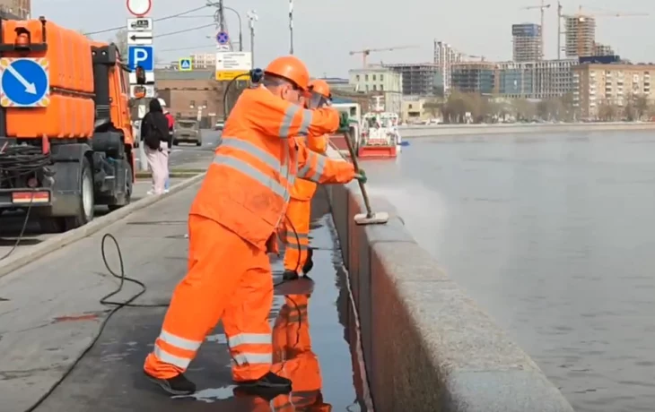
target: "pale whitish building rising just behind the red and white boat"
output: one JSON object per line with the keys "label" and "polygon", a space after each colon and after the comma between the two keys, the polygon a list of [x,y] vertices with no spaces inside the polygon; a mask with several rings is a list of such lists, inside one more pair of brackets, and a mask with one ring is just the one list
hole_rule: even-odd
{"label": "pale whitish building rising just behind the red and white boat", "polygon": [[400,113],[403,98],[403,75],[389,67],[369,66],[348,72],[355,91],[384,97],[385,110]]}

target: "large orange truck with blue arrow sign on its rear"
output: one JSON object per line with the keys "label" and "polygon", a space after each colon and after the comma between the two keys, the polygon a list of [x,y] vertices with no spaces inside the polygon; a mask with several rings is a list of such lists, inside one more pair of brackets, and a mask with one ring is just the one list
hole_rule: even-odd
{"label": "large orange truck with blue arrow sign on its rear", "polygon": [[118,47],[40,17],[0,20],[0,210],[62,232],[130,202],[135,137]]}

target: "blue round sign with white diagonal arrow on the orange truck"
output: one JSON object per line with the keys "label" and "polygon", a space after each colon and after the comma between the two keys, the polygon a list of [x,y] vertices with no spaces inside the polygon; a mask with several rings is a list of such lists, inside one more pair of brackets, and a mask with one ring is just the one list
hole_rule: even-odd
{"label": "blue round sign with white diagonal arrow on the orange truck", "polygon": [[0,59],[0,105],[47,107],[50,76],[45,58]]}

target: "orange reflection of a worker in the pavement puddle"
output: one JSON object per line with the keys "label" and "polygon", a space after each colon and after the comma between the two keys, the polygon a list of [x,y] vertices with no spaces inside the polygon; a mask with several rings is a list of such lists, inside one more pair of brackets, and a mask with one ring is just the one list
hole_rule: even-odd
{"label": "orange reflection of a worker in the pavement puddle", "polygon": [[[319,358],[311,350],[309,302],[310,295],[284,296],[284,305],[273,326],[273,359],[275,365],[282,367],[281,374],[293,382],[293,391],[272,400],[251,398],[255,412],[332,410],[332,406],[323,401]],[[248,391],[236,391],[237,396],[248,394]]]}

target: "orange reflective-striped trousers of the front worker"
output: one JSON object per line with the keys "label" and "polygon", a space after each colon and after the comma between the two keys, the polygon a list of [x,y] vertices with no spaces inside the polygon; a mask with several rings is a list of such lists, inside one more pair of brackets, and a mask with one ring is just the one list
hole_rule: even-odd
{"label": "orange reflective-striped trousers of the front worker", "polygon": [[233,380],[256,380],[272,366],[268,256],[201,216],[189,216],[188,236],[188,272],[173,292],[144,371],[160,379],[185,372],[206,335],[223,320]]}

